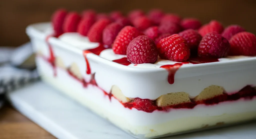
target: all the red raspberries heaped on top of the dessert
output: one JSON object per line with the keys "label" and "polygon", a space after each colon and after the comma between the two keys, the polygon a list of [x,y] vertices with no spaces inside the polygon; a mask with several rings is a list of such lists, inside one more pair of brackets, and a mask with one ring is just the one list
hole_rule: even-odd
{"label": "all the red raspberries heaped on top of the dessert", "polygon": [[208,24],[194,18],[154,9],[145,14],[133,10],[124,16],[120,11],[109,14],[85,10],[81,14],[57,10],[52,16],[55,35],[78,32],[92,42],[112,47],[116,54],[126,54],[135,64],[154,63],[158,55],[176,62],[190,55],[222,58],[228,55],[256,55],[256,37],[239,25]]}

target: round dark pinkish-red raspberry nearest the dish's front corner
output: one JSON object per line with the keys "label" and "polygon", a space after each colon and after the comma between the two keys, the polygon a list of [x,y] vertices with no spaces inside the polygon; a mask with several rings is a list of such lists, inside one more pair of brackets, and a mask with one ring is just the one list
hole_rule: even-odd
{"label": "round dark pinkish-red raspberry nearest the dish's front corner", "polygon": [[152,39],[142,35],[134,38],[127,46],[127,60],[134,64],[155,63],[157,48]]}

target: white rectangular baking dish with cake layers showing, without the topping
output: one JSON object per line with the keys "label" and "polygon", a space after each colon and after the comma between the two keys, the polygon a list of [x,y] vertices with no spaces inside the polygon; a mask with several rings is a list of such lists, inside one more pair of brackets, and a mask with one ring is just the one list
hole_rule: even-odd
{"label": "white rectangular baking dish with cake layers showing, without the topping", "polygon": [[[42,80],[132,136],[157,138],[256,118],[256,57],[184,64],[169,84],[164,68],[125,66],[85,53],[49,37],[49,28],[37,23],[26,29]],[[157,108],[145,112],[133,105],[136,98]]]}

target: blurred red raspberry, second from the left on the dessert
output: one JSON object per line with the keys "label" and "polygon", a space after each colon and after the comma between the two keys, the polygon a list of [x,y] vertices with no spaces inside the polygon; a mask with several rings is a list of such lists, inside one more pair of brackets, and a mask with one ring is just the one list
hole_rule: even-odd
{"label": "blurred red raspberry, second from the left on the dessert", "polygon": [[66,16],[63,23],[63,31],[64,32],[76,32],[77,26],[81,20],[81,17],[77,12],[70,12]]}

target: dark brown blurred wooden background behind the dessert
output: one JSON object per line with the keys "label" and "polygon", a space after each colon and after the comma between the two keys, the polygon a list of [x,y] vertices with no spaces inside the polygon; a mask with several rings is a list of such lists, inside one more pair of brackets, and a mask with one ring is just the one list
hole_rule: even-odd
{"label": "dark brown blurred wooden background behind the dessert", "polygon": [[239,24],[256,34],[256,0],[0,0],[0,46],[18,46],[29,39],[27,25],[50,20],[57,8],[98,12],[141,8],[161,8],[182,17],[195,17],[207,23],[219,20],[224,26]]}

